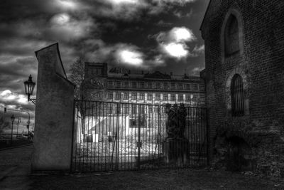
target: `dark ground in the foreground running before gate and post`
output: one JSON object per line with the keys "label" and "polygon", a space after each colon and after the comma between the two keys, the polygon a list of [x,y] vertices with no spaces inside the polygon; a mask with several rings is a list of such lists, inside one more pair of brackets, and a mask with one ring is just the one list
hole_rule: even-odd
{"label": "dark ground in the foreground running before gate and post", "polygon": [[0,151],[0,189],[284,189],[283,181],[206,169],[30,174],[32,148]]}

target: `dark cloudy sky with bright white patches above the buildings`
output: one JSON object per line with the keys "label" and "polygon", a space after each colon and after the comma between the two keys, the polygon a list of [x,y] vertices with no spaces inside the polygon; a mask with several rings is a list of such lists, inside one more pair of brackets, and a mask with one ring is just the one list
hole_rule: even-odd
{"label": "dark cloudy sky with bright white patches above the buildings", "polygon": [[[204,68],[200,25],[209,0],[1,0],[0,115],[27,110],[23,82],[36,83],[35,51],[59,43],[67,76],[84,54],[89,62],[177,75]],[[36,89],[35,89],[36,90]],[[35,94],[34,94],[35,95]],[[9,111],[22,117],[27,115]]]}

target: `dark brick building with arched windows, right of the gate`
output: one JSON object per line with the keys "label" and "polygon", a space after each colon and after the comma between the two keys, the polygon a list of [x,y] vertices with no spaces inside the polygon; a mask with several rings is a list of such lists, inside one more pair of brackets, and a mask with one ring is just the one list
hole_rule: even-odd
{"label": "dark brick building with arched windows, right of the gate", "polygon": [[205,43],[211,159],[284,175],[284,1],[211,0]]}

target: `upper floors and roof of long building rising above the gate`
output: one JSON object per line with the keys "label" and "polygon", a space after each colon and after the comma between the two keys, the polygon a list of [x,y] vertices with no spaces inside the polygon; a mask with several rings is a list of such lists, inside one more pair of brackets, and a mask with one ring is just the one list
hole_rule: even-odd
{"label": "upper floors and roof of long building rising above the gate", "polygon": [[154,73],[131,73],[107,63],[85,63],[85,100],[165,105],[184,103],[204,107],[205,86],[200,77]]}

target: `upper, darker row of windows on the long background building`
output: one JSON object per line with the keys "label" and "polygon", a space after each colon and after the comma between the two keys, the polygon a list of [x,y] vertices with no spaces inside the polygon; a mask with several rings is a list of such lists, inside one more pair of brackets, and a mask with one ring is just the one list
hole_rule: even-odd
{"label": "upper, darker row of windows on the long background building", "polygon": [[[197,84],[184,84],[184,83],[152,83],[152,82],[129,82],[129,81],[109,81],[109,88],[148,88],[148,89],[171,89],[171,90],[198,90]],[[200,90],[204,91],[204,85],[199,85]]]}

